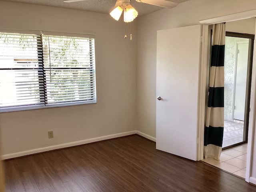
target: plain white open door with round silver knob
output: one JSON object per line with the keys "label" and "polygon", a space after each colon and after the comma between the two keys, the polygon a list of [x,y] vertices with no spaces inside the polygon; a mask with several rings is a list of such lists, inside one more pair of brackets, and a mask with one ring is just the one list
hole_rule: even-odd
{"label": "plain white open door with round silver knob", "polygon": [[157,31],[156,148],[191,160],[197,155],[200,32],[200,25]]}

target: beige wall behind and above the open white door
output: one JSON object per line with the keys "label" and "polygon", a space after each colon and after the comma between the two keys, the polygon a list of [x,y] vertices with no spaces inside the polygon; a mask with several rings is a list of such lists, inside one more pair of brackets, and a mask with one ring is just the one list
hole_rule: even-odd
{"label": "beige wall behind and above the open white door", "polygon": [[[189,0],[137,20],[137,128],[156,137],[156,31],[256,9],[255,0]],[[186,74],[184,74],[184,77]],[[256,143],[254,149],[256,148]],[[254,152],[256,156],[256,152]],[[256,157],[252,177],[256,178]]]}

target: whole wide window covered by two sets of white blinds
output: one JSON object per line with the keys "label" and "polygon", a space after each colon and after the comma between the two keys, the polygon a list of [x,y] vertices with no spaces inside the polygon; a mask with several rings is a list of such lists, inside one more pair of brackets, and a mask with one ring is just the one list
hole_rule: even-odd
{"label": "whole wide window covered by two sets of white blinds", "polygon": [[0,33],[0,111],[96,102],[94,38]]}

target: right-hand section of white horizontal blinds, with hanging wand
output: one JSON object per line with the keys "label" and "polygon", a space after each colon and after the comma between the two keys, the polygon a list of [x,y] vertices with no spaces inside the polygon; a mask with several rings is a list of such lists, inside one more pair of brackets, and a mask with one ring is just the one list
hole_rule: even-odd
{"label": "right-hand section of white horizontal blinds, with hanging wand", "polygon": [[42,37],[48,104],[94,100],[94,40]]}

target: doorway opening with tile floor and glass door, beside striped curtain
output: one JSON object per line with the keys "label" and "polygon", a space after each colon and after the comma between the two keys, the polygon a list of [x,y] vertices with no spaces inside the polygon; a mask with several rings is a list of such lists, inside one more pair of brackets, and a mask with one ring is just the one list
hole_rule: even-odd
{"label": "doorway opening with tile floor and glass door, beside striped curtain", "polygon": [[[209,35],[210,29],[211,26],[209,26],[208,28]],[[255,91],[255,83],[254,81],[252,81],[252,56],[255,32],[255,18],[226,22],[226,31],[232,32],[226,33],[225,42],[225,121],[222,153],[220,156],[220,160],[208,158],[202,161],[216,166],[236,176],[240,176],[241,178],[245,178],[245,180],[248,182],[248,170],[250,170],[250,167],[246,166],[250,164],[250,158],[247,159],[247,156],[250,156],[250,145],[252,142],[252,122],[254,118],[254,115],[252,115],[254,113],[254,110],[252,110],[249,125],[249,106],[250,101],[252,102],[251,107],[253,107],[255,103],[254,97],[250,98],[251,82],[252,92],[253,90]],[[208,37],[208,45],[209,44],[210,38]],[[228,59],[228,56],[226,56],[226,50],[230,51],[231,49],[233,49],[234,51],[232,52],[232,54],[230,54],[231,59]],[[238,50],[240,50],[240,52]],[[210,53],[208,53],[208,55],[210,55]],[[233,61],[231,62],[230,60]],[[245,60],[246,62],[243,62],[243,60]],[[228,93],[228,89],[232,90],[232,92]],[[229,96],[229,100],[226,100],[228,98],[227,96]],[[237,100],[235,100],[235,98]],[[244,99],[242,100],[241,98]],[[229,108],[227,108],[227,106],[229,106]]]}

